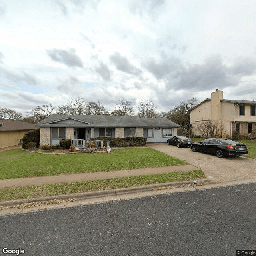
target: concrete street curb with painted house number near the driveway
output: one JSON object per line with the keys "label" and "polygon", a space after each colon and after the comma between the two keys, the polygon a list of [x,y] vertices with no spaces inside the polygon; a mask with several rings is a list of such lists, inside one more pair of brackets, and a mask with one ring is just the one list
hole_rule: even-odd
{"label": "concrete street curb with painted house number near the driveway", "polygon": [[[193,182],[196,182],[196,184],[194,184]],[[210,181],[208,179],[201,179],[201,180],[190,180],[190,181],[182,181],[182,182],[168,182],[168,183],[158,183],[153,185],[143,185],[143,186],[129,187],[129,188],[117,188],[117,189],[111,189],[111,190],[64,194],[64,195],[58,195],[58,196],[46,196],[46,197],[40,197],[40,198],[8,200],[8,201],[0,202],[0,206],[12,206],[12,205],[24,204],[24,203],[50,201],[54,199],[65,200],[69,198],[75,198],[76,200],[83,200],[83,199],[93,199],[93,198],[104,198],[104,197],[110,197],[110,196],[116,197],[118,195],[152,191],[152,190],[155,190],[156,188],[178,187],[183,185],[198,186],[202,183],[209,184]]]}

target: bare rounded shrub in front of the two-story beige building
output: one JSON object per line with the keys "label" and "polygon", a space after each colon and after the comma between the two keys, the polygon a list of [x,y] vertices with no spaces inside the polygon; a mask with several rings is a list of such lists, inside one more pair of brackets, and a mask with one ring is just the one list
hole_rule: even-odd
{"label": "bare rounded shrub in front of the two-story beige building", "polygon": [[198,124],[197,131],[202,138],[221,138],[225,133],[222,123],[216,120],[207,120]]}

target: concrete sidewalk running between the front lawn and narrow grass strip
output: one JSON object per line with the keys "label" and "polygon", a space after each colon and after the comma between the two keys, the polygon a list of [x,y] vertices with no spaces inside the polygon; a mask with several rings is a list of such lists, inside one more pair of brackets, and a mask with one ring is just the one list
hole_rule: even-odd
{"label": "concrete sidewalk running between the front lawn and narrow grass strip", "polygon": [[121,177],[142,176],[148,174],[163,174],[168,172],[188,172],[201,170],[191,164],[178,165],[178,166],[162,166],[153,168],[140,168],[132,170],[118,170],[111,172],[88,172],[88,173],[74,173],[62,174],[56,176],[42,176],[42,177],[29,177],[29,178],[15,178],[0,180],[0,188],[15,188],[21,186],[40,186],[46,184],[56,184],[65,182],[76,181],[89,181],[89,180],[104,180]]}

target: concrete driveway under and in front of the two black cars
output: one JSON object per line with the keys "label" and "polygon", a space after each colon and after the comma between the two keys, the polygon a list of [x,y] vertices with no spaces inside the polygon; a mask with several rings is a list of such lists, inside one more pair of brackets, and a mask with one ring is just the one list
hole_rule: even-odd
{"label": "concrete driveway under and in front of the two black cars", "polygon": [[190,148],[178,148],[168,144],[148,144],[147,146],[202,169],[212,182],[256,178],[256,159],[244,156],[218,158],[211,154],[193,152]]}

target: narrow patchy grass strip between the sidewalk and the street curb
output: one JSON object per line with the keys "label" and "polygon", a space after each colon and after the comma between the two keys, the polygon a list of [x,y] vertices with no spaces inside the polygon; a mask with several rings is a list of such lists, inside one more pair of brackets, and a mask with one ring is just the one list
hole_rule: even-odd
{"label": "narrow patchy grass strip between the sidewalk and the street curb", "polygon": [[0,201],[55,196],[61,194],[73,194],[115,188],[129,188],[132,186],[142,186],[173,181],[188,181],[204,178],[206,178],[206,176],[203,171],[169,172],[166,174],[133,176],[86,182],[71,182],[61,184],[48,184],[43,186],[8,188],[0,190]]}

